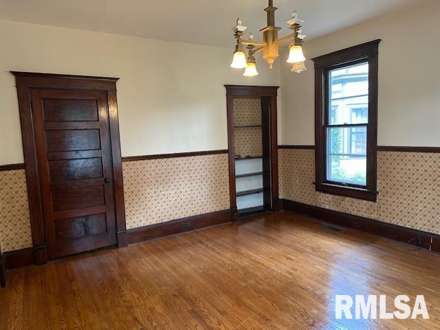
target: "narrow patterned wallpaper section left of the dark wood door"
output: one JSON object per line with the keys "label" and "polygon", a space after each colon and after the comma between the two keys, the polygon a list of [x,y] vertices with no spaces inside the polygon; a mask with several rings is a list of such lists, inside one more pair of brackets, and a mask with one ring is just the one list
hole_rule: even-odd
{"label": "narrow patterned wallpaper section left of the dark wood door", "polygon": [[0,171],[0,244],[3,252],[32,246],[24,169]]}

